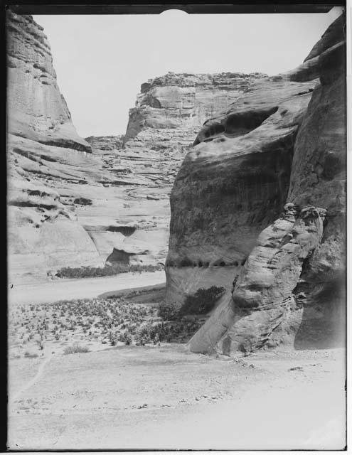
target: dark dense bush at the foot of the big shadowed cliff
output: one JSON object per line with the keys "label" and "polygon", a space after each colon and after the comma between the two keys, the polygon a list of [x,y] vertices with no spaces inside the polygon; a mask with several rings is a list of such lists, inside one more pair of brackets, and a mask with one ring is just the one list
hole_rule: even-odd
{"label": "dark dense bush at the foot of the big shadowed cliff", "polygon": [[215,301],[225,291],[224,287],[200,288],[195,294],[188,295],[181,306],[180,314],[206,314],[213,309]]}

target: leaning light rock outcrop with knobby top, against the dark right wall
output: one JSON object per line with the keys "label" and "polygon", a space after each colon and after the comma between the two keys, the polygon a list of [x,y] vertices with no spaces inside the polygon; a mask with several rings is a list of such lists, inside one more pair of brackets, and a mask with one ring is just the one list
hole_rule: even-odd
{"label": "leaning light rock outcrop with knobby top, against the dark right wall", "polygon": [[304,259],[319,245],[326,210],[287,204],[282,216],[263,230],[233,283],[230,296],[190,342],[191,350],[250,352],[286,341],[298,330],[302,309],[292,291]]}

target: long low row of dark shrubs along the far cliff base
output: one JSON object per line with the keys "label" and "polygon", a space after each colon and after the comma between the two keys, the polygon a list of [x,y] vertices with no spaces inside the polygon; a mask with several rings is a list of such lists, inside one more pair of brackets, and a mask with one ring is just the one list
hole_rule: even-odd
{"label": "long low row of dark shrubs along the far cliff base", "polygon": [[105,264],[104,267],[63,267],[56,272],[59,278],[109,277],[127,272],[155,272],[163,270],[162,264]]}

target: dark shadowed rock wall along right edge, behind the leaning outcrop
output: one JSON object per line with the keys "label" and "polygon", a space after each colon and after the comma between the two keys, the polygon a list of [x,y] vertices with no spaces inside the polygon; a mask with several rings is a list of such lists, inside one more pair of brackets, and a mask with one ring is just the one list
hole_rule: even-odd
{"label": "dark shadowed rock wall along right edge, behind the leaning outcrop", "polygon": [[[322,38],[320,83],[313,92],[294,144],[287,200],[326,209],[322,240],[304,264],[302,282],[295,290],[304,304],[303,321],[295,339],[297,347],[316,346],[316,339],[322,346],[337,343],[338,337],[345,342],[346,42],[343,30],[341,17]],[[330,48],[329,37],[334,38]]]}

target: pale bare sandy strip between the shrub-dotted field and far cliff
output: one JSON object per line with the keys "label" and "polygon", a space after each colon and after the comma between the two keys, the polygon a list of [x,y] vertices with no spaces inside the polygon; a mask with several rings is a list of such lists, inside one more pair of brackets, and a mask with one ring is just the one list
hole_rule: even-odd
{"label": "pale bare sandy strip between the shrub-dotted field and far cliff", "polygon": [[91,299],[109,291],[138,288],[165,282],[164,270],[123,273],[114,277],[58,279],[9,289],[9,304],[44,304],[62,299]]}

